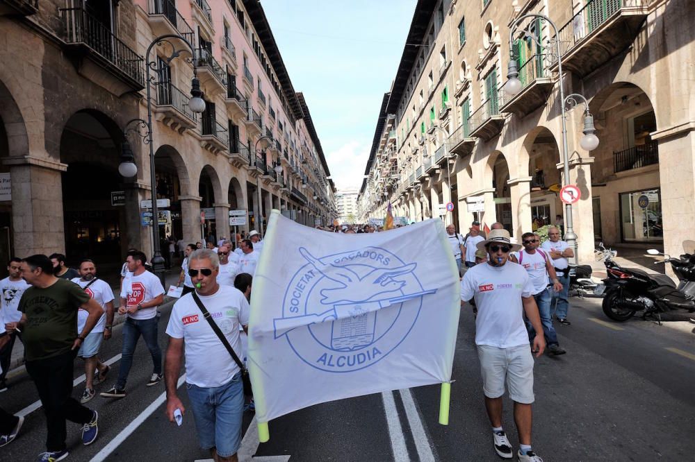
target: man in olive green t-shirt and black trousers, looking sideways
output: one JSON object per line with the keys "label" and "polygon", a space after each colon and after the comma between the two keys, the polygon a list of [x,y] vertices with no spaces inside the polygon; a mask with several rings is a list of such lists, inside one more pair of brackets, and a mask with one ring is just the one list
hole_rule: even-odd
{"label": "man in olive green t-shirt and black trousers, looking sideways", "polygon": [[[77,349],[104,310],[79,285],[56,277],[46,255],[22,259],[21,268],[22,277],[31,287],[19,300],[17,309],[22,312],[22,319],[7,323],[5,329],[22,332],[26,371],[36,385],[47,420],[48,452],[42,454],[42,460],[57,460],[67,455],[65,419],[83,425],[83,444],[97,438],[97,412],[83,407],[70,394]],[[89,316],[78,334],[80,307]]]}

